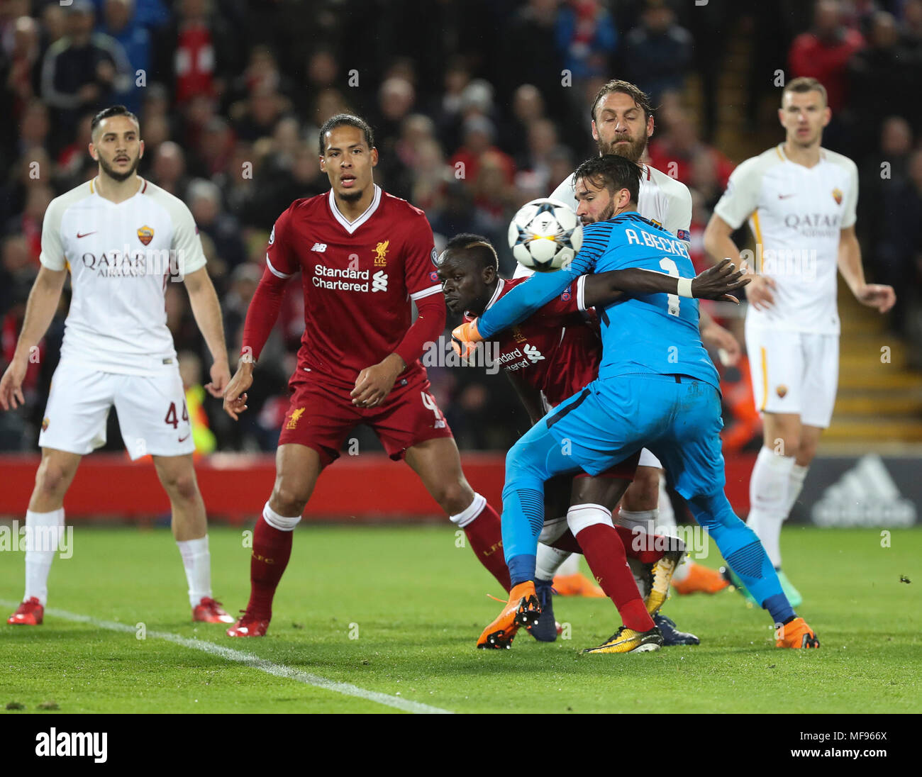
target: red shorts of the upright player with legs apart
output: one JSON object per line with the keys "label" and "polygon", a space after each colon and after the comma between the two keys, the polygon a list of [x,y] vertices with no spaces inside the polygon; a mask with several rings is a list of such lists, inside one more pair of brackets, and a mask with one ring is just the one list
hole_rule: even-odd
{"label": "red shorts of the upright player with legs apart", "polygon": [[391,393],[377,407],[352,404],[347,390],[299,367],[289,383],[291,399],[282,421],[278,444],[306,445],[320,453],[323,466],[339,458],[339,449],[359,424],[378,435],[384,450],[395,461],[408,448],[437,437],[452,437],[452,430],[429,393],[425,372],[397,378]]}

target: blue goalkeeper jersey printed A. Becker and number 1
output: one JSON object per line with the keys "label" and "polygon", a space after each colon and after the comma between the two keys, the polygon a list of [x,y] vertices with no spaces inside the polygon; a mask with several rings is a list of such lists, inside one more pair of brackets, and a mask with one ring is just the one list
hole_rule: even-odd
{"label": "blue goalkeeper jersey printed A. Becker and number 1", "polygon": [[[688,247],[636,211],[583,229],[583,247],[569,266],[536,273],[480,316],[488,338],[518,324],[588,273],[638,267],[673,277],[695,277]],[[719,377],[698,331],[698,300],[676,294],[624,294],[597,309],[602,328],[600,380],[621,375],[691,375],[715,388]]]}

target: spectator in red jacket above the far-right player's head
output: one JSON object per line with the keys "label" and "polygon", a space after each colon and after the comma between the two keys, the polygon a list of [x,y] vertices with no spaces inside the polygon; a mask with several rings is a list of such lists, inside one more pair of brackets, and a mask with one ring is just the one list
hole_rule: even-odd
{"label": "spectator in red jacket above the far-right player's head", "polygon": [[861,33],[843,24],[839,0],[818,0],[813,28],[798,35],[788,53],[790,77],[818,78],[835,116],[842,111],[848,94],[845,67],[852,54],[863,47]]}

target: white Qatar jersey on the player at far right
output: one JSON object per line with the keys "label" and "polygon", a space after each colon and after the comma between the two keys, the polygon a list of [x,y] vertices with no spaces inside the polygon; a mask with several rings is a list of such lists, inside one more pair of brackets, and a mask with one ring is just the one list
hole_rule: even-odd
{"label": "white Qatar jersey on the player at far right", "polygon": [[779,145],[733,171],[714,212],[734,230],[749,219],[755,270],[775,283],[774,305],[750,305],[750,324],[839,334],[839,238],[855,224],[857,201],[855,162],[825,148],[811,168],[787,159]]}

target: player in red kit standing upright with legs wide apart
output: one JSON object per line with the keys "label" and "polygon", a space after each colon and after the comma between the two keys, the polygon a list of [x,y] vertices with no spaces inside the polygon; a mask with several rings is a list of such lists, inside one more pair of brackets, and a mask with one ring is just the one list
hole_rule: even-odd
{"label": "player in red kit standing upright with legs wide apart", "polygon": [[[467,484],[455,440],[420,364],[445,326],[425,214],[374,183],[371,127],[340,113],[320,130],[330,191],[296,200],[269,236],[266,270],[247,311],[240,366],[224,394],[238,418],[289,279],[301,272],[304,335],[278,439],[276,483],[257,519],[246,611],[228,634],[262,636],[272,599],[321,471],[349,431],[372,427],[392,459],[404,459],[480,562],[509,590],[500,517]],[[419,317],[410,323],[410,300]]]}

